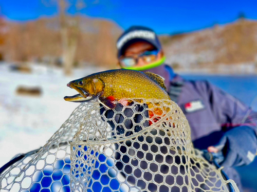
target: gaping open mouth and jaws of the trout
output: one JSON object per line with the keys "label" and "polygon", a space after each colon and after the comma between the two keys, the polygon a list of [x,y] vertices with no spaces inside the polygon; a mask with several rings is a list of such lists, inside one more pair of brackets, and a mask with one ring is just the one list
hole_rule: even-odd
{"label": "gaping open mouth and jaws of the trout", "polygon": [[92,98],[92,96],[87,93],[85,90],[83,90],[82,88],[67,84],[67,86],[71,89],[75,89],[77,92],[79,92],[79,94],[74,95],[74,96],[65,96],[64,100],[65,101],[71,101],[71,102],[84,102],[84,101],[88,101]]}

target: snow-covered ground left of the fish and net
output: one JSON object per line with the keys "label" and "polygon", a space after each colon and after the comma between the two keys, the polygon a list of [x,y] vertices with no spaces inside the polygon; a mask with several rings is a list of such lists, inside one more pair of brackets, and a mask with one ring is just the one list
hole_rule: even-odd
{"label": "snow-covered ground left of the fish and net", "polygon": [[[57,68],[33,65],[31,74],[13,72],[0,64],[0,167],[14,155],[43,146],[79,105],[64,96],[75,95],[66,84],[105,69],[77,69],[66,77]],[[18,86],[40,87],[40,97],[16,95]]]}

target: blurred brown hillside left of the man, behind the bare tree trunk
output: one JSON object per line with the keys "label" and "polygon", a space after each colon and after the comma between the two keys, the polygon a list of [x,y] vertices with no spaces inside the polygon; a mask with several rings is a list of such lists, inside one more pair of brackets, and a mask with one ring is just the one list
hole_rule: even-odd
{"label": "blurred brown hillside left of the man, behind the bare tree trunk", "polygon": [[[26,23],[5,20],[5,28],[0,54],[6,61],[60,62],[62,41],[58,17]],[[116,66],[116,40],[121,28],[110,20],[81,17],[79,30],[76,63]]]}

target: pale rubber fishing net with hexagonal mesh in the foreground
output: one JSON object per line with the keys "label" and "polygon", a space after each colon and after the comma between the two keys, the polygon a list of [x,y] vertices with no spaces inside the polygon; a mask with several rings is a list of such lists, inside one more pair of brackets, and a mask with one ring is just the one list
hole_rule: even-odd
{"label": "pale rubber fishing net with hexagonal mesh in the foreground", "polygon": [[0,175],[2,191],[229,191],[194,150],[170,100],[128,99],[108,110],[83,102],[41,150]]}

